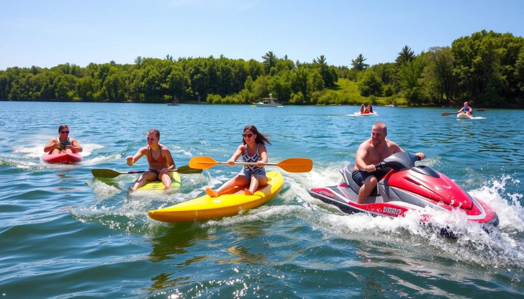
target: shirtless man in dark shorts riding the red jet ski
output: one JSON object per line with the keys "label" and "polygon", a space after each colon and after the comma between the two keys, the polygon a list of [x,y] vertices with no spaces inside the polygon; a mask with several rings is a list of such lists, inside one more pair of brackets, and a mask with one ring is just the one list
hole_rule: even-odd
{"label": "shirtless man in dark shorts riding the red jet ski", "polygon": [[[404,151],[397,143],[386,139],[388,128],[386,124],[378,121],[371,129],[371,138],[361,143],[355,155],[355,167],[353,168],[352,178],[355,183],[361,186],[358,190],[358,204],[363,204],[371,194],[377,183],[388,173],[388,169],[377,170],[375,164],[380,163],[385,158],[396,152]],[[425,158],[425,154],[418,152],[420,160]]]}

